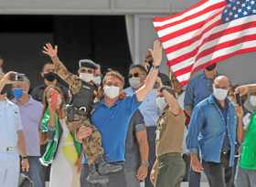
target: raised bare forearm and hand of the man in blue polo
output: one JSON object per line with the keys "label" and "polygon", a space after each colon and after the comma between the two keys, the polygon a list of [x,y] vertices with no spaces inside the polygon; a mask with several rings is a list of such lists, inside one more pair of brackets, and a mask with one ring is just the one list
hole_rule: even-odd
{"label": "raised bare forearm and hand of the man in blue polo", "polygon": [[149,49],[149,51],[152,54],[152,57],[154,58],[153,68],[151,68],[151,70],[149,71],[145,79],[144,86],[140,88],[138,91],[136,91],[138,101],[143,101],[147,94],[154,88],[155,80],[158,77],[159,73],[158,68],[154,67],[159,67],[162,61],[162,47],[161,43],[158,40],[154,42],[153,50]]}

